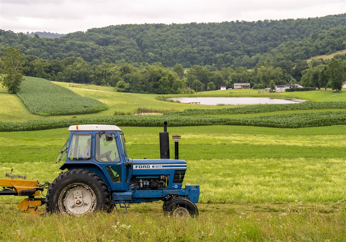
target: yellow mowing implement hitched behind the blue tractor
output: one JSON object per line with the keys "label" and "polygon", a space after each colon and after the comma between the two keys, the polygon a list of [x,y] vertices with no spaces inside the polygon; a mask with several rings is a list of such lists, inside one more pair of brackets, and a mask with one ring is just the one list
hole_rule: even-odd
{"label": "yellow mowing implement hitched behind the blue tractor", "polygon": [[[12,173],[12,171],[11,171]],[[37,207],[42,206],[45,202],[44,198],[38,198],[35,196],[40,195],[40,191],[43,191],[43,187],[40,186],[38,180],[19,180],[13,179],[15,177],[26,179],[26,175],[12,175],[6,173],[6,176],[10,179],[0,179],[0,195],[14,195],[14,196],[28,196],[23,201],[18,203],[18,208],[22,212],[29,211],[31,214],[42,214],[45,210],[37,210]]]}

